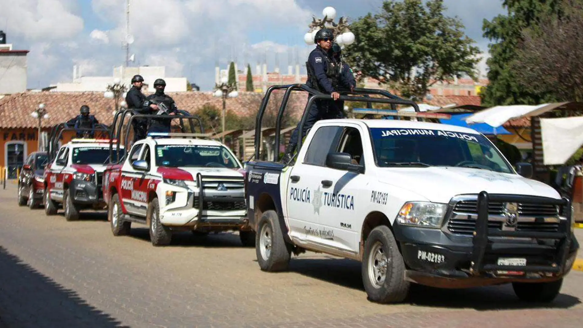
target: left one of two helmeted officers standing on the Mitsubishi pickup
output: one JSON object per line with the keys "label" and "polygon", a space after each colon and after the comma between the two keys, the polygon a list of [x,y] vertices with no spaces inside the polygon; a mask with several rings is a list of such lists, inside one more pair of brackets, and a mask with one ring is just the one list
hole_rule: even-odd
{"label": "left one of two helmeted officers standing on the Mitsubishi pickup", "polygon": [[[146,96],[142,93],[143,82],[142,75],[134,75],[132,77],[132,88],[128,90],[125,96],[125,103],[128,104],[128,109],[133,110],[134,114],[149,114],[150,110],[158,109],[156,104],[146,104]],[[132,120],[132,127],[134,128],[134,142],[146,138],[147,118],[135,118]]]}

